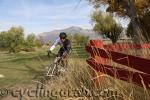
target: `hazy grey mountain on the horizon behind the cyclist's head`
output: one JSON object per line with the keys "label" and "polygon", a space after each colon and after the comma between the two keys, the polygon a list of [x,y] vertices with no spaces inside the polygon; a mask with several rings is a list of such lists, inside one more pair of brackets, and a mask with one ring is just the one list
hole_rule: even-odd
{"label": "hazy grey mountain on the horizon behind the cyclist's head", "polygon": [[82,35],[89,36],[90,39],[100,39],[102,36],[98,35],[96,32],[90,29],[83,29],[80,27],[72,26],[66,29],[53,30],[50,32],[43,32],[38,35],[38,37],[42,38],[44,42],[54,41],[58,38],[60,32],[66,32],[67,34],[76,34],[81,33]]}

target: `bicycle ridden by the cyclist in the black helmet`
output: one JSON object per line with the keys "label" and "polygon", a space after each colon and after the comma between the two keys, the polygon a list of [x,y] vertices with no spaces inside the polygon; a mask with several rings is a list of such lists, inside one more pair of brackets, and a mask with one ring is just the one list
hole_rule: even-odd
{"label": "bicycle ridden by the cyclist in the black helmet", "polygon": [[48,66],[45,70],[45,77],[52,78],[55,76],[59,76],[61,72],[65,71],[67,64],[64,61],[64,57],[59,57],[55,53],[51,53],[56,56],[53,63]]}

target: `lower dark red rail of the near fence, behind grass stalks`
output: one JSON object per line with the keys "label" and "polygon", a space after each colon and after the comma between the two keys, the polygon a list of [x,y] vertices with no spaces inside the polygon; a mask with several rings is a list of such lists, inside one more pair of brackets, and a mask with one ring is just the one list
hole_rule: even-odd
{"label": "lower dark red rail of the near fence, behind grass stalks", "polygon": [[[117,79],[130,82],[130,79],[132,80],[132,83],[135,83],[139,86],[143,86],[142,80],[144,82],[144,85],[146,88],[149,88],[150,84],[150,75],[149,74],[143,74],[138,72],[129,71],[122,68],[114,68],[109,65],[102,65],[96,62],[94,59],[88,59],[87,63],[91,65],[95,70],[103,72],[104,74],[110,75],[112,77],[115,77]],[[129,76],[132,76],[129,77]]]}

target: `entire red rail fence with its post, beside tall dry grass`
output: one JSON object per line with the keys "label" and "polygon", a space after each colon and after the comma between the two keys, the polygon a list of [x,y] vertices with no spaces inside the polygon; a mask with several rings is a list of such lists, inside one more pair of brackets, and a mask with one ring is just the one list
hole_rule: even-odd
{"label": "entire red rail fence with its post, beside tall dry grass", "polygon": [[[123,49],[141,49],[150,48],[149,44],[143,45],[129,45],[129,44],[118,44],[118,45],[105,45],[101,40],[91,40],[90,44],[85,47],[85,49],[91,54],[92,59],[88,59],[87,63],[91,65],[98,73],[102,72],[110,76],[115,77],[114,69],[109,65],[109,61],[112,60],[118,64],[125,65],[130,68],[142,71],[144,74],[138,72],[131,72],[120,68],[115,68],[117,70],[118,79],[128,81],[129,74],[133,74],[132,81],[136,84],[142,86],[141,77],[147,88],[150,84],[150,59],[145,59],[141,57],[136,57],[132,55],[127,55],[123,53],[118,53],[118,50]],[[108,49],[108,50],[107,50]],[[114,51],[113,51],[114,50]],[[98,75],[102,75],[99,73]],[[94,76],[94,77],[97,77]],[[122,78],[124,77],[124,78]],[[102,77],[100,77],[102,79]]]}

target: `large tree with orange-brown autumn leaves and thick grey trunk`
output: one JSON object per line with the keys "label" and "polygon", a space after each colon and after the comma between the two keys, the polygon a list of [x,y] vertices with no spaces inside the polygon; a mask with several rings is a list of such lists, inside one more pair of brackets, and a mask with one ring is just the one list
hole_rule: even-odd
{"label": "large tree with orange-brown autumn leaves and thick grey trunk", "polygon": [[[149,0],[88,0],[90,3],[99,7],[101,4],[107,4],[107,11],[116,13],[121,17],[129,17],[133,26],[133,41],[140,43],[143,30],[140,26],[139,17],[149,10]],[[138,41],[137,41],[138,40]]]}

